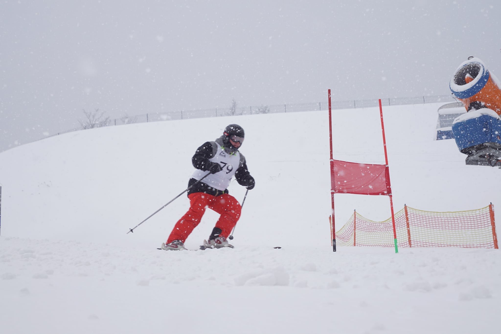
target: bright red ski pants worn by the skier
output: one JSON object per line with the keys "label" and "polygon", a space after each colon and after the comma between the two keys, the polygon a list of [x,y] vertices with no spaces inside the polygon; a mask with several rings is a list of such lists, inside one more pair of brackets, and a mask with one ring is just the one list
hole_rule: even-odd
{"label": "bright red ski pants worn by the skier", "polygon": [[235,226],[238,218],[240,218],[241,206],[237,200],[228,194],[213,196],[203,192],[195,192],[188,195],[190,208],[177,221],[172,229],[172,232],[167,239],[167,243],[174,240],[181,240],[183,243],[190,235],[191,231],[198,225],[202,219],[205,209],[209,208],[219,213],[219,219],[216,226],[222,230],[221,236],[227,238],[231,230]]}

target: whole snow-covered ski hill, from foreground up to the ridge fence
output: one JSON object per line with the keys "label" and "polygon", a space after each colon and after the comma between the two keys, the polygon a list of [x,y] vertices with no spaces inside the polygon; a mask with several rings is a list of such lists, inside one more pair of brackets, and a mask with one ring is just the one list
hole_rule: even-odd
{"label": "whole snow-covered ski hill, from foreground up to the ridge fence", "polygon": [[[433,141],[439,105],[386,107],[394,205],[501,205],[499,171]],[[377,108],[334,111],[336,159],[383,163]],[[330,247],[327,111],[132,124],[68,133],[0,153],[0,328],[9,333],[471,333],[501,310],[497,250]],[[185,212],[191,155],[230,123],[246,133],[256,188],[235,249],[155,248]],[[245,189],[236,182],[238,200]],[[336,195],[338,228],[386,196]],[[217,215],[186,241],[196,248]],[[274,246],[282,246],[274,249]],[[468,316],[464,316],[467,314]],[[26,321],[29,319],[30,321]],[[4,330],[2,330],[4,332]]]}

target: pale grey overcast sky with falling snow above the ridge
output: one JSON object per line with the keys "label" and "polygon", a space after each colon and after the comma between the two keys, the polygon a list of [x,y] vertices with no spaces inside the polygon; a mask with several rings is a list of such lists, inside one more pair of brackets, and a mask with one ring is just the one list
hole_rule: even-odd
{"label": "pale grey overcast sky with falling snow above the ridge", "polygon": [[501,75],[496,1],[4,1],[0,151],[171,110],[449,94],[468,56]]}

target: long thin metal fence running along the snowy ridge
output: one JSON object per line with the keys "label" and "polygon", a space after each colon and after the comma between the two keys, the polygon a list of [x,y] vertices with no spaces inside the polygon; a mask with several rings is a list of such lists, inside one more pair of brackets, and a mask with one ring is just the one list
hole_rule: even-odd
{"label": "long thin metal fence running along the snowy ridge", "polygon": [[[396,106],[406,104],[423,104],[423,103],[439,103],[439,102],[454,102],[456,101],[452,95],[436,95],[436,96],[418,96],[418,97],[404,97],[404,98],[387,98],[381,99],[383,106]],[[349,101],[336,101],[331,102],[332,109],[356,109],[356,108],[369,108],[379,106],[378,99],[371,100],[349,100]],[[238,116],[238,115],[256,115],[256,114],[275,114],[275,113],[293,113],[300,111],[317,111],[327,110],[329,107],[328,102],[312,102],[312,103],[296,103],[296,104],[279,104],[269,106],[250,106],[239,107],[235,110],[231,108],[213,108],[201,110],[179,110],[164,113],[148,113],[137,116],[128,116],[108,120],[101,126],[123,125],[131,123],[147,123],[158,121],[173,121],[192,118],[206,118],[206,117],[222,117],[222,116]],[[63,132],[58,132],[54,135],[57,136],[63,133],[82,130],[82,128],[71,129]],[[45,137],[47,138],[47,137]]]}

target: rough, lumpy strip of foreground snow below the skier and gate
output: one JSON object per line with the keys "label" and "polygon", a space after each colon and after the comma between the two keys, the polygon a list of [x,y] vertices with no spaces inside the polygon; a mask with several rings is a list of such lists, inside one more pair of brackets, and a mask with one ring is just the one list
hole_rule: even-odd
{"label": "rough, lumpy strip of foreground snow below the skier and gate", "polygon": [[4,333],[471,334],[498,326],[497,250],[167,253],[2,237],[0,261]]}

